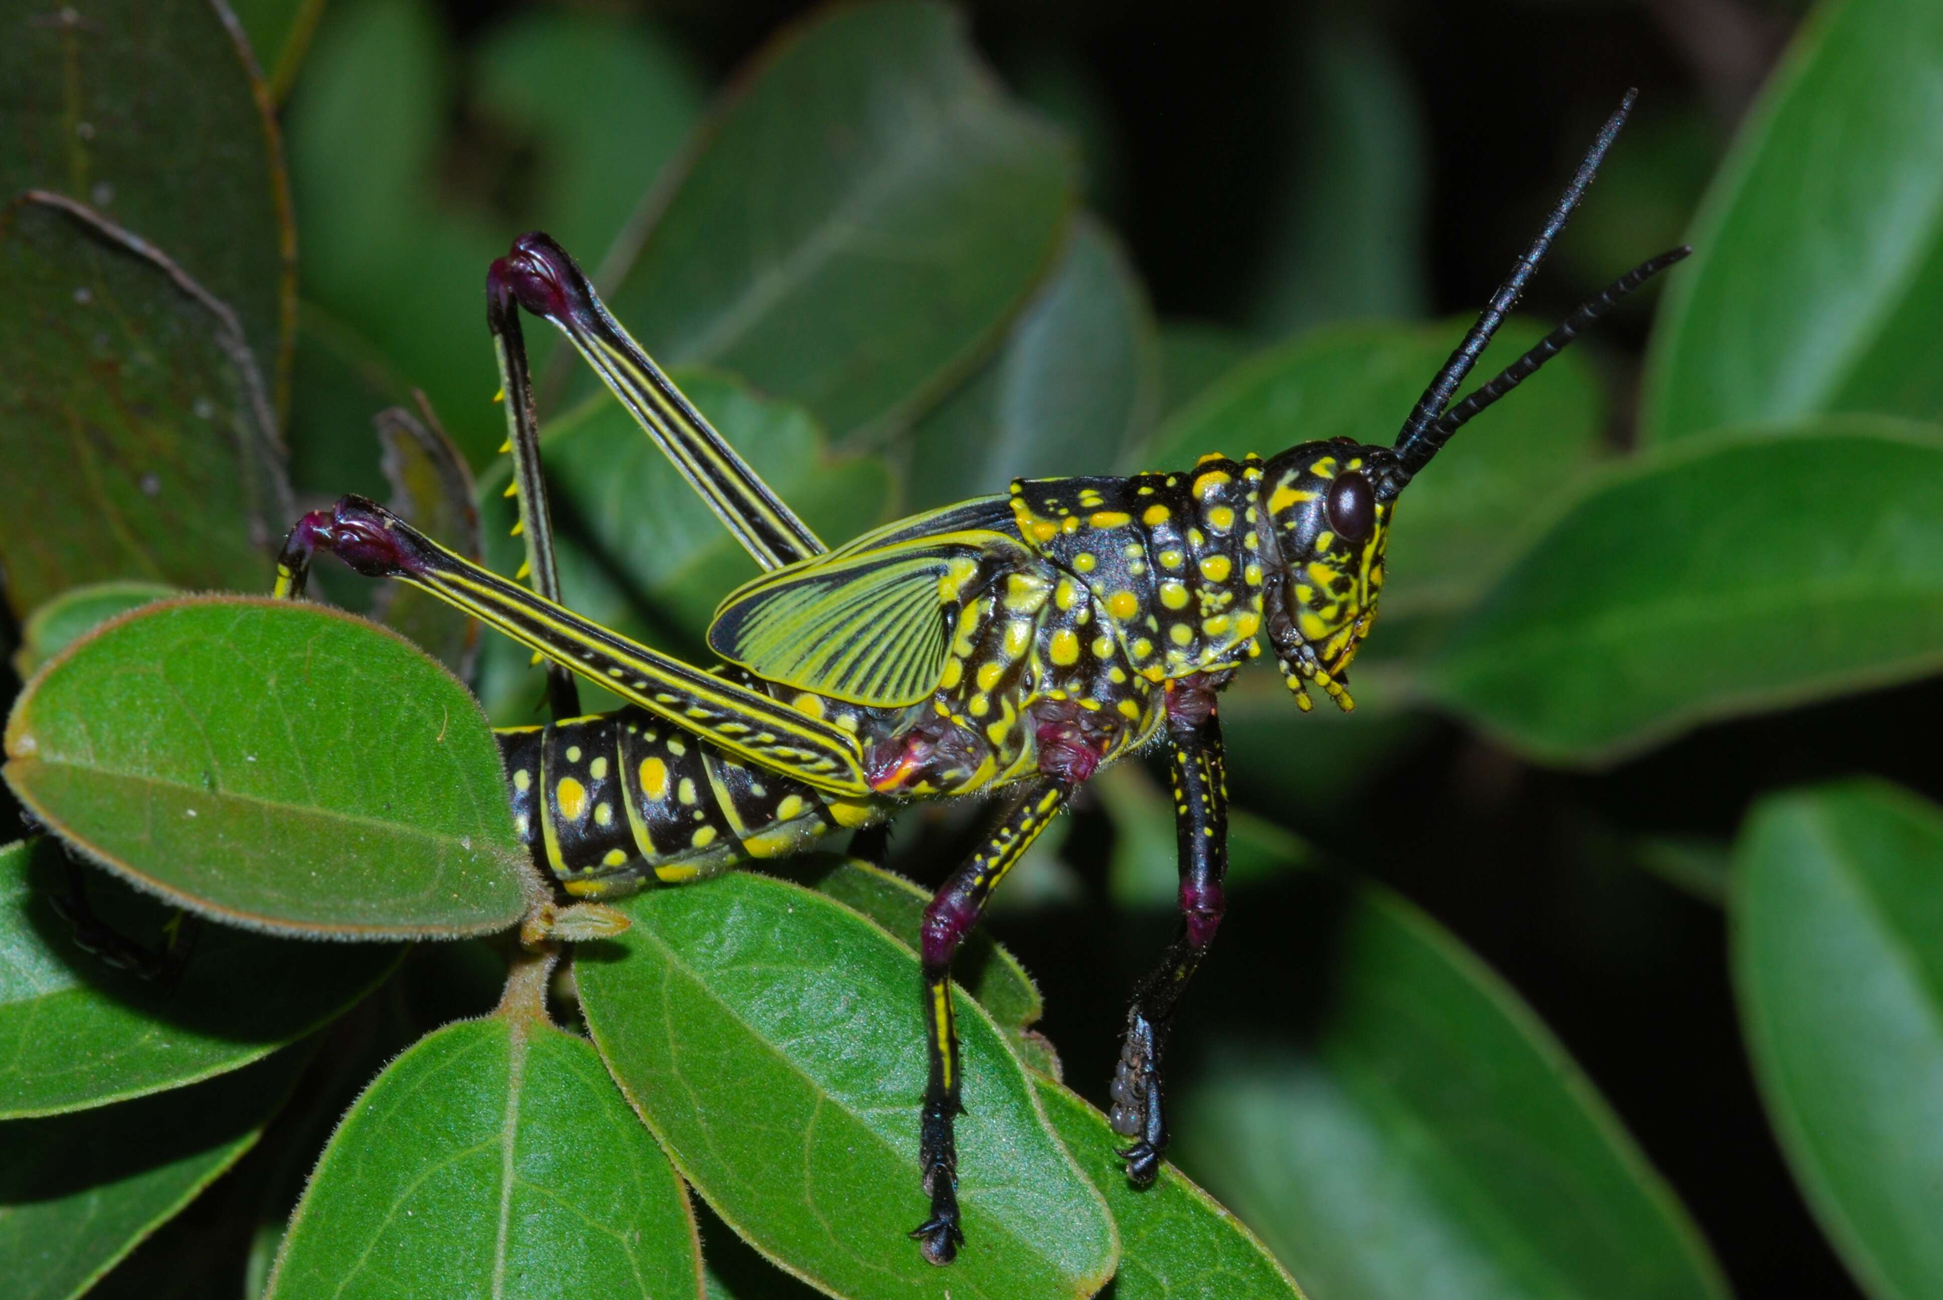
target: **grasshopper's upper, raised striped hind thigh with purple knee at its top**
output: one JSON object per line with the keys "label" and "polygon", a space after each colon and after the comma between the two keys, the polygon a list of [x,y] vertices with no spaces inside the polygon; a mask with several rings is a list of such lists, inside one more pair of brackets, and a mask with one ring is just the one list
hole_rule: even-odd
{"label": "grasshopper's upper, raised striped hind thigh with purple knee at its top", "polygon": [[494,284],[532,315],[560,326],[756,564],[775,569],[824,554],[826,546],[808,525],[608,315],[587,276],[552,237],[532,231],[515,239],[513,251],[494,262]]}

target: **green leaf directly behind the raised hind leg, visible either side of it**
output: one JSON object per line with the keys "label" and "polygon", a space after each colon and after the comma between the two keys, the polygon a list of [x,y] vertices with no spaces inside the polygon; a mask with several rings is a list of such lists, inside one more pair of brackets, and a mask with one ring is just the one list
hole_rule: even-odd
{"label": "green leaf directly behind the raised hind leg, visible either side of it", "polygon": [[[880,457],[832,457],[808,412],[762,398],[731,375],[676,371],[674,379],[824,542],[841,544],[888,515],[892,484]],[[756,562],[606,394],[546,426],[540,445],[565,604],[622,635],[705,653],[701,633],[715,606],[758,573]],[[525,558],[511,536],[511,472],[501,459],[478,488],[486,558],[499,573]],[[542,686],[525,649],[490,637],[482,678],[495,719],[530,721]],[[581,696],[589,709],[618,707],[585,684]]]}

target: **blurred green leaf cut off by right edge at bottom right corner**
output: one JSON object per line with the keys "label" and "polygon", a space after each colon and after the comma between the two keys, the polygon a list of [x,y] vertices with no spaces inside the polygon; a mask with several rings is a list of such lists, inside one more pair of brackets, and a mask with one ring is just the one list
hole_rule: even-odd
{"label": "blurred green leaf cut off by right edge at bottom right corner", "polygon": [[1943,1283],[1943,814],[1877,783],[1776,795],[1735,845],[1749,1053],[1815,1216],[1873,1296]]}

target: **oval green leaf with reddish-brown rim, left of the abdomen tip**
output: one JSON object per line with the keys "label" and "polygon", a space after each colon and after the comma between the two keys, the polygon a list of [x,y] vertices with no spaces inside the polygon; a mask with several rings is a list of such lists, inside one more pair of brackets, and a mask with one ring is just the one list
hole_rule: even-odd
{"label": "oval green leaf with reddish-brown rim, left of the abdomen tip", "polygon": [[27,684],[6,781],[62,839],[222,921],[340,939],[525,913],[499,752],[394,633],[293,600],[136,610]]}

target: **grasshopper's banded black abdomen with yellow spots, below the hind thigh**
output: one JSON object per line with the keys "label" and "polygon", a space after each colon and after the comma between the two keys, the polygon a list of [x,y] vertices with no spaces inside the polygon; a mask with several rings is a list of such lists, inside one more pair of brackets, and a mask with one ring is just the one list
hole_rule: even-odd
{"label": "grasshopper's banded black abdomen with yellow spots, below the hind thigh", "polygon": [[519,838],[579,898],[783,857],[888,812],[752,768],[641,709],[497,736]]}

